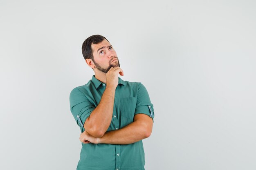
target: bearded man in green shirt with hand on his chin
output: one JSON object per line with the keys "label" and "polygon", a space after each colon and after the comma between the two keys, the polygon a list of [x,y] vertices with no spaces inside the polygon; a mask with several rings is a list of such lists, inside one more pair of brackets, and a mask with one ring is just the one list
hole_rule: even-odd
{"label": "bearded man in green shirt with hand on his chin", "polygon": [[105,37],[87,38],[82,53],[95,75],[70,93],[70,110],[82,132],[77,170],[145,170],[142,139],[150,136],[154,118],[146,88],[118,77],[124,71]]}

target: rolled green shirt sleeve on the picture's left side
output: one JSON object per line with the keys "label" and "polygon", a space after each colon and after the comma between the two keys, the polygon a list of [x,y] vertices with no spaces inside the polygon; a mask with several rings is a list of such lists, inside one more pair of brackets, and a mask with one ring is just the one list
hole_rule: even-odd
{"label": "rolled green shirt sleeve on the picture's left side", "polygon": [[84,129],[85,120],[91,115],[95,109],[85,94],[79,90],[78,87],[74,88],[70,93],[70,111],[76,120],[76,124],[80,129]]}

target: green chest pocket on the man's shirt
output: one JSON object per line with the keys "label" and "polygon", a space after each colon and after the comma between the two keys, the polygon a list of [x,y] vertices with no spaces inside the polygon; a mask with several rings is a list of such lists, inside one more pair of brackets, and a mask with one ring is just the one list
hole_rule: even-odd
{"label": "green chest pocket on the man's shirt", "polygon": [[120,99],[121,116],[126,117],[130,122],[133,121],[137,99],[135,97],[126,97]]}

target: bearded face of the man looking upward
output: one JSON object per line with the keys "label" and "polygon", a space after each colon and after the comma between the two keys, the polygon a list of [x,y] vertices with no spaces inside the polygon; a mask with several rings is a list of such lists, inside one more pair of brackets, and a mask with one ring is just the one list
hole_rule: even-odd
{"label": "bearded face of the man looking upward", "polygon": [[117,53],[106,39],[99,44],[92,43],[91,47],[94,65],[99,71],[108,73],[111,67],[120,67]]}

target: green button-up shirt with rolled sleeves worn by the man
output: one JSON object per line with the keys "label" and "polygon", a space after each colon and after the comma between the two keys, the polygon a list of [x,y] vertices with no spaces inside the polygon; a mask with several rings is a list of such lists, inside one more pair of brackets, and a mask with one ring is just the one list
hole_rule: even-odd
{"label": "green button-up shirt with rolled sleeves worn by the man", "polygon": [[[84,131],[85,120],[98,106],[106,84],[92,76],[85,85],[70,93],[70,110]],[[134,115],[143,113],[154,118],[153,104],[145,86],[118,77],[111,124],[107,131],[117,130],[133,122]],[[76,170],[145,170],[143,143],[133,144],[83,144]]]}

